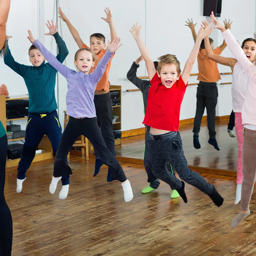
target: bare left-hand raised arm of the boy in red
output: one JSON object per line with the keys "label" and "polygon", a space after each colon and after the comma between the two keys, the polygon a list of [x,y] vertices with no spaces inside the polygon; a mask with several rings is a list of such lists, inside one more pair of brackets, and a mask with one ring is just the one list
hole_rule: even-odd
{"label": "bare left-hand raised arm of the boy in red", "polygon": [[153,76],[156,74],[156,68],[155,68],[153,60],[150,57],[148,49],[146,48],[145,44],[143,43],[143,41],[140,37],[140,29],[141,29],[141,26],[139,27],[138,23],[136,23],[136,26],[133,25],[132,30],[129,30],[129,31],[132,33],[132,36],[135,39],[135,41],[139,47],[140,53],[146,62],[149,80],[151,80],[153,78]]}

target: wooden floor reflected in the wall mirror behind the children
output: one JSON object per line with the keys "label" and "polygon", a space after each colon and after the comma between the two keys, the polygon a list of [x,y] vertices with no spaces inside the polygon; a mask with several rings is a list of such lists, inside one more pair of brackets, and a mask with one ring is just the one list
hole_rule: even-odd
{"label": "wooden floor reflected in the wall mirror behind the children", "polygon": [[[236,138],[229,137],[227,123],[227,121],[216,122],[216,140],[220,151],[217,151],[212,145],[208,144],[209,135],[206,122],[202,123],[199,133],[200,149],[195,149],[193,146],[193,124],[180,126],[179,131],[183,142],[183,150],[189,165],[236,172],[237,140]],[[143,159],[144,145],[144,135],[123,138],[122,144],[116,146],[116,155]]]}

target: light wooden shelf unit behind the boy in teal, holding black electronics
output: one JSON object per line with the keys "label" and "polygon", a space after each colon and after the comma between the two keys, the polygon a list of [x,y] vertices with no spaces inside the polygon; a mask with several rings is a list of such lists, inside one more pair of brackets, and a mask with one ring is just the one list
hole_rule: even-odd
{"label": "light wooden shelf unit behind the boy in teal, holding black electronics", "polygon": [[[0,121],[3,124],[5,131],[6,131],[6,122],[28,119],[27,117],[6,119],[6,101],[7,100],[24,100],[24,99],[28,99],[28,95],[14,96],[10,98],[5,98],[4,95],[0,95]],[[24,140],[24,139],[25,137],[20,137],[20,138],[11,139],[8,141]],[[44,151],[40,154],[36,154],[33,162],[38,162],[38,161],[52,158],[52,145],[46,135],[44,135],[43,139],[39,143],[38,148]],[[20,158],[7,160],[6,168],[17,166],[19,164],[19,161],[20,161]]]}

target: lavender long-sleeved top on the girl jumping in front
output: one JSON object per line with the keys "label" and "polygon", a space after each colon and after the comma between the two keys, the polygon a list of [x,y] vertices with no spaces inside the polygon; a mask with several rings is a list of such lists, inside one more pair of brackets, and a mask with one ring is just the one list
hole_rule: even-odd
{"label": "lavender long-sleeved top on the girl jumping in front", "polygon": [[84,116],[95,117],[96,111],[93,102],[94,91],[97,83],[105,72],[106,65],[113,55],[113,52],[107,50],[94,72],[85,75],[82,71],[77,72],[61,64],[38,40],[36,40],[33,45],[44,55],[44,58],[52,67],[57,69],[68,81],[68,92],[66,95],[67,115],[76,118]]}

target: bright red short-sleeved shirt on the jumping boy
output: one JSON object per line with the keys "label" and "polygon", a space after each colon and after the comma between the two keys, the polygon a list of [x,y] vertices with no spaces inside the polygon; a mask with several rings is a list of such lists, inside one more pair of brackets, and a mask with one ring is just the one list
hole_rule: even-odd
{"label": "bright red short-sleeved shirt on the jumping boy", "polygon": [[143,124],[159,130],[177,132],[180,125],[180,105],[187,85],[180,76],[171,88],[166,88],[157,73],[150,84]]}

